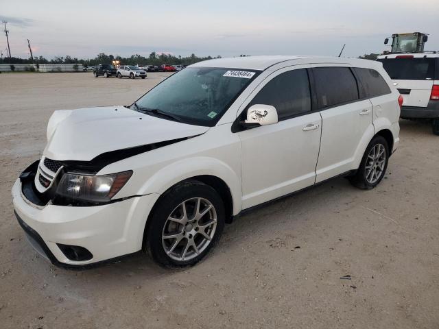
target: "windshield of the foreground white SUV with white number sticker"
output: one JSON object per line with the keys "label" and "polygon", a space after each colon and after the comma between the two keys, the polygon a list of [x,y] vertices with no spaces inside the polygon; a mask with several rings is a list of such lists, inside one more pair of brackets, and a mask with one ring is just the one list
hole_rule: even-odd
{"label": "windshield of the foreground white SUV with white number sticker", "polygon": [[171,114],[184,123],[213,126],[257,73],[189,67],[158,84],[136,105],[139,110]]}

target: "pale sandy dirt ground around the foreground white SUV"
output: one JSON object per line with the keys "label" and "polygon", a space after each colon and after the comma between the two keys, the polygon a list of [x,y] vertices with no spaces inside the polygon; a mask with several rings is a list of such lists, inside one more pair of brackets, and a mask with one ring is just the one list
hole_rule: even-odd
{"label": "pale sandy dirt ground around the foreground white SUV", "polygon": [[401,121],[374,190],[340,178],[251,212],[190,269],[139,255],[67,271],[37,256],[10,189],[51,112],[129,104],[165,76],[0,74],[1,328],[439,328],[439,137],[426,123]]}

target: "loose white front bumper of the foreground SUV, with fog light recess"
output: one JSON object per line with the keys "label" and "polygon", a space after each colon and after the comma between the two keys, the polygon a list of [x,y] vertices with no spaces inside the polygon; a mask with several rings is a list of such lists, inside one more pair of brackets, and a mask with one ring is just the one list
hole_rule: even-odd
{"label": "loose white front bumper of the foreground SUV, with fog light recess", "polygon": [[34,186],[38,161],[12,187],[14,213],[29,243],[61,267],[87,267],[141,250],[157,194],[97,206],[57,206]]}

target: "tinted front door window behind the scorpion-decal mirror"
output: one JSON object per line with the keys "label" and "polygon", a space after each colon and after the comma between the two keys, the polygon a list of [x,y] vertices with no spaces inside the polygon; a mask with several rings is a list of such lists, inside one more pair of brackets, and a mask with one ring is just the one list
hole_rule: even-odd
{"label": "tinted front door window behind the scorpion-decal mirror", "polygon": [[254,104],[274,106],[279,120],[311,111],[307,70],[287,71],[274,77],[252,99],[248,108]]}

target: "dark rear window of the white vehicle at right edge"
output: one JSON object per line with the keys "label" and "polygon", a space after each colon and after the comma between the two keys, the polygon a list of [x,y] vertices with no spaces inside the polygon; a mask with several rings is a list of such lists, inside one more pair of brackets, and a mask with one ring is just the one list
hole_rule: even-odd
{"label": "dark rear window of the white vehicle at right edge", "polygon": [[434,58],[381,58],[393,80],[434,80]]}

